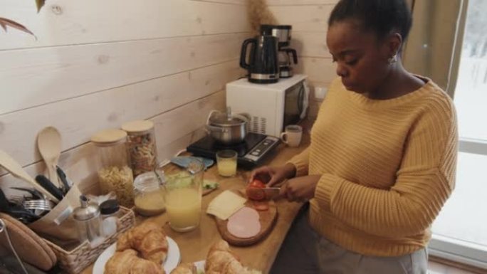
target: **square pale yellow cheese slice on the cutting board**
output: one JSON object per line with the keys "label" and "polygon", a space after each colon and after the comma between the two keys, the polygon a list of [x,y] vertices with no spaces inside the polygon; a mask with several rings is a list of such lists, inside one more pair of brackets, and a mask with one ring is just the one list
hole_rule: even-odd
{"label": "square pale yellow cheese slice on the cutting board", "polygon": [[247,200],[244,197],[226,190],[216,196],[206,209],[207,214],[214,215],[222,220],[230,218],[236,211],[244,207]]}

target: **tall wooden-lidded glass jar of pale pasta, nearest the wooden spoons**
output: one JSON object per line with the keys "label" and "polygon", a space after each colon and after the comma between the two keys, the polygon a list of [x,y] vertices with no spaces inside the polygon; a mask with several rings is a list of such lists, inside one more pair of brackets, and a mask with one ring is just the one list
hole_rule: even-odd
{"label": "tall wooden-lidded glass jar of pale pasta, nearest the wooden spoons", "polygon": [[134,204],[133,174],[127,153],[127,132],[103,130],[91,137],[100,160],[98,180],[103,194],[113,191],[119,204],[132,207]]}

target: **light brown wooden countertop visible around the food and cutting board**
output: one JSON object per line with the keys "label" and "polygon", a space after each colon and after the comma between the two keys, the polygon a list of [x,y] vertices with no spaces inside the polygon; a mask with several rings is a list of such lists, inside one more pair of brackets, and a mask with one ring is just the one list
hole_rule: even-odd
{"label": "light brown wooden countertop visible around the food and cutting board", "polygon": [[[267,162],[264,164],[271,166],[282,165],[295,154],[298,154],[305,149],[308,144],[309,135],[303,135],[303,142],[301,142],[300,147],[290,148],[286,147],[285,144],[280,144],[275,149],[273,155],[268,157]],[[213,191],[203,197],[203,212],[206,212],[206,207],[208,206],[209,202],[219,193],[221,193],[221,191],[226,189],[244,188],[246,186],[246,179],[249,175],[250,171],[239,170],[236,176],[225,178],[218,175],[216,164],[214,167],[208,169],[204,174],[204,178],[218,181],[220,187],[216,191]],[[262,273],[268,273],[271,269],[273,261],[275,260],[279,248],[281,247],[281,243],[283,243],[293,219],[295,218],[296,214],[298,214],[298,211],[303,204],[279,200],[276,201],[276,205],[278,207],[278,220],[276,222],[276,226],[273,228],[271,233],[263,239],[263,241],[247,247],[231,246],[231,250],[239,255],[242,263],[245,266],[261,270]],[[145,219],[147,218],[137,218],[137,223]],[[182,255],[182,263],[204,260],[209,247],[221,239],[221,236],[216,228],[214,217],[208,214],[201,216],[201,223],[197,229],[186,233],[172,231],[167,223],[167,214],[162,214],[150,219],[152,219],[152,221],[157,221],[157,223],[164,224],[167,235],[173,238],[179,246]],[[93,265],[90,265],[90,267],[83,270],[82,274],[92,274],[92,270]]]}

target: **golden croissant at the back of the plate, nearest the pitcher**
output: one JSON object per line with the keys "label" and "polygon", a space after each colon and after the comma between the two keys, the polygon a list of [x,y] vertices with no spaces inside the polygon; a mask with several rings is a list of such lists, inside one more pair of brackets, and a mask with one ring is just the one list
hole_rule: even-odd
{"label": "golden croissant at the back of the plate, nearest the pitcher", "polygon": [[135,249],[142,258],[162,265],[167,257],[166,233],[155,223],[142,223],[118,238],[117,251],[125,251],[127,248]]}

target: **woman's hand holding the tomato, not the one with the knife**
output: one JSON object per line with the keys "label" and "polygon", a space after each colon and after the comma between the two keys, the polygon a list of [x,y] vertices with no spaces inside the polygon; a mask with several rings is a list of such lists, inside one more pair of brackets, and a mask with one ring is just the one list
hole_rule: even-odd
{"label": "woman's hand holding the tomato, not the one with the knife", "polygon": [[253,179],[259,179],[267,184],[267,186],[273,186],[279,184],[286,179],[293,178],[296,174],[296,168],[293,164],[286,164],[281,167],[259,167],[254,169],[251,176],[248,179],[248,183]]}

